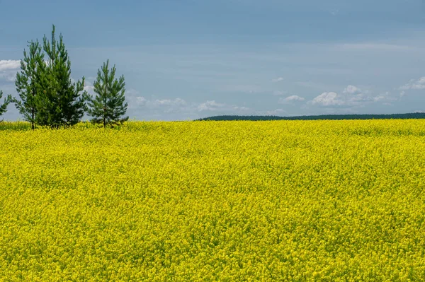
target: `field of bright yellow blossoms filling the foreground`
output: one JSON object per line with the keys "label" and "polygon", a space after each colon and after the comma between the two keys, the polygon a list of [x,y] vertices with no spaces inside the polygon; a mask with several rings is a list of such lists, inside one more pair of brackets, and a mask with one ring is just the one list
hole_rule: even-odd
{"label": "field of bright yellow blossoms filling the foreground", "polygon": [[425,120],[0,124],[0,281],[425,281]]}

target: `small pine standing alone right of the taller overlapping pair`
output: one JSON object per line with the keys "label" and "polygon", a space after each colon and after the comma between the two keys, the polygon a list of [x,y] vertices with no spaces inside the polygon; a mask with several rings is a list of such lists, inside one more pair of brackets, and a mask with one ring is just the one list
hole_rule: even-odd
{"label": "small pine standing alone right of the taller overlapping pair", "polygon": [[[98,76],[94,83],[94,92],[96,97],[86,94],[87,113],[94,117],[91,122],[102,123],[113,126],[114,124],[122,124],[128,117],[122,117],[127,112],[128,103],[125,102],[125,82],[124,76],[115,79],[115,65],[108,69],[109,60],[103,63],[101,69],[98,70]],[[124,104],[125,102],[125,104]]]}

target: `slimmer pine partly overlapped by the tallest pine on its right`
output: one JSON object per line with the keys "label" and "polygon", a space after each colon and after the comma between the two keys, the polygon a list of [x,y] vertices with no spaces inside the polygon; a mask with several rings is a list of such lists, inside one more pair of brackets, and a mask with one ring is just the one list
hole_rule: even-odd
{"label": "slimmer pine partly overlapped by the tallest pine on its right", "polygon": [[29,54],[23,51],[21,60],[21,72],[16,74],[16,91],[19,98],[13,99],[16,108],[23,118],[31,123],[31,129],[35,126],[35,117],[37,114],[37,102],[40,98],[41,86],[40,79],[45,71],[44,54],[42,54],[41,45],[38,41],[28,42]]}

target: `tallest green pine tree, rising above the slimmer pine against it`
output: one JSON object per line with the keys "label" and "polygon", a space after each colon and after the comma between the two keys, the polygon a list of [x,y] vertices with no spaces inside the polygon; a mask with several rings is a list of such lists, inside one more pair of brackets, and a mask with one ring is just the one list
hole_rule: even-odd
{"label": "tallest green pine tree, rising above the slimmer pine against it", "polygon": [[43,49],[47,54],[46,70],[42,74],[42,95],[38,100],[36,122],[50,127],[77,124],[84,115],[84,77],[82,81],[72,83],[71,61],[65,49],[62,34],[59,41],[55,37],[55,25],[52,27],[51,42],[45,36]]}

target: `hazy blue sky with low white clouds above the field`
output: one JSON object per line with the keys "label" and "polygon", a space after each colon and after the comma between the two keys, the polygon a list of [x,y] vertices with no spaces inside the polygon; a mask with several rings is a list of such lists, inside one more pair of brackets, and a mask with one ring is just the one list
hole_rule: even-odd
{"label": "hazy blue sky with low white clouds above the field", "polygon": [[[422,0],[0,0],[0,90],[54,23],[92,91],[110,59],[128,115],[425,111]],[[10,105],[4,119],[19,119]]]}

